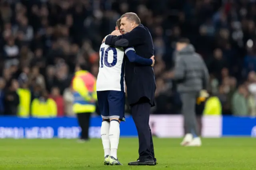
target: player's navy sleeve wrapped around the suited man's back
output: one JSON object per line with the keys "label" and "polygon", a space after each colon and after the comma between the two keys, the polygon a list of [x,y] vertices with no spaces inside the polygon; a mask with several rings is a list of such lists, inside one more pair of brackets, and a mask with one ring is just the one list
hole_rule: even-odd
{"label": "player's navy sleeve wrapped around the suited man's back", "polygon": [[138,63],[142,65],[152,65],[153,63],[152,59],[143,58],[137,55],[133,47],[125,48],[124,52],[127,58],[129,59],[129,61],[132,63]]}

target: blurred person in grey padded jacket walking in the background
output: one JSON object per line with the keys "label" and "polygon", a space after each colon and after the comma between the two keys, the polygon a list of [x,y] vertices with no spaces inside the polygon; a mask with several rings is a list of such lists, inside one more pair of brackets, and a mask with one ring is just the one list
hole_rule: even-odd
{"label": "blurred person in grey padded jacket walking in the background", "polygon": [[204,60],[187,38],[176,43],[174,80],[182,100],[184,126],[188,132],[181,145],[201,146],[196,122],[196,100],[208,96],[209,74]]}

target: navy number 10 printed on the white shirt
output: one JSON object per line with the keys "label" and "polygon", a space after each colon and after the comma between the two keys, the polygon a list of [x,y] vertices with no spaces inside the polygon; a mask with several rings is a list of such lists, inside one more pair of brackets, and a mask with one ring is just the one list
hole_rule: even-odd
{"label": "navy number 10 printed on the white shirt", "polygon": [[[113,61],[112,63],[108,63],[108,51],[112,50],[113,51]],[[105,51],[105,47],[100,49],[101,52],[101,57],[100,57],[100,68],[103,68],[103,58],[104,58],[104,65],[107,67],[114,67],[117,62],[117,51],[115,47],[108,47]]]}

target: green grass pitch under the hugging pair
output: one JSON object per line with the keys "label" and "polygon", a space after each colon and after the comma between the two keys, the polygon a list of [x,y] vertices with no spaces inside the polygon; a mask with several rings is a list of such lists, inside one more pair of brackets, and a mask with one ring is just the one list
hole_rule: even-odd
{"label": "green grass pitch under the hugging pair", "polygon": [[0,139],[0,170],[255,170],[256,138],[203,139],[181,147],[181,139],[154,138],[156,166],[128,166],[138,158],[138,139],[121,138],[123,166],[104,166],[100,139]]}

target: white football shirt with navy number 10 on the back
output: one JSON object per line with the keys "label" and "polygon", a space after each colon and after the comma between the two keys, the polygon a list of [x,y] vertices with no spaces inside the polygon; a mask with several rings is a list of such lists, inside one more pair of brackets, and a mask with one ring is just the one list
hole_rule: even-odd
{"label": "white football shirt with navy number 10 on the back", "polygon": [[124,91],[124,49],[102,43],[100,46],[100,67],[97,77],[97,91]]}

